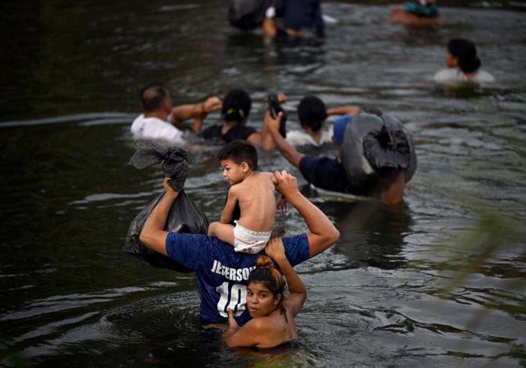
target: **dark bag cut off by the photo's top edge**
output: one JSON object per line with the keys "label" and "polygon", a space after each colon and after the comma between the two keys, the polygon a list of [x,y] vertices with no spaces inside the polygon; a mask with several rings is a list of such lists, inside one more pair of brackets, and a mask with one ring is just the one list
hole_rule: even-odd
{"label": "dark bag cut off by the photo's top edge", "polygon": [[228,2],[228,20],[232,26],[242,30],[251,30],[262,24],[269,0],[230,0]]}

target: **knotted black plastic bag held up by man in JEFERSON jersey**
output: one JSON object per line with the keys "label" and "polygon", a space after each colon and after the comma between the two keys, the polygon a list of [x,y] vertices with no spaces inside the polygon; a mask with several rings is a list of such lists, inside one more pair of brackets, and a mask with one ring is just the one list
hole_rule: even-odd
{"label": "knotted black plastic bag held up by man in JEFERSON jersey", "polygon": [[[207,234],[208,220],[205,214],[198,209],[196,204],[190,200],[182,189],[188,170],[187,154],[185,150],[177,147],[164,148],[153,142],[137,141],[137,151],[130,159],[130,164],[137,168],[146,168],[154,164],[161,164],[164,175],[170,177],[170,185],[176,191],[180,191],[176,200],[171,205],[164,230],[185,234]],[[192,272],[180,263],[173,261],[168,256],[149,249],[139,240],[144,222],[150,216],[151,211],[159,203],[164,193],[155,198],[133,219],[126,235],[124,252],[149,263],[153,267],[167,268],[178,272]]]}

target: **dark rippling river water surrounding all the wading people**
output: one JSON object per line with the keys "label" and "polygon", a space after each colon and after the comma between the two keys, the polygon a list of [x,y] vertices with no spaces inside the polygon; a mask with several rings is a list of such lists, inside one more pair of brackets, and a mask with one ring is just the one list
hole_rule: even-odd
{"label": "dark rippling river water surrounding all the wading people", "polygon": [[[388,1],[327,1],[339,23],[325,42],[276,45],[231,28],[219,0],[3,2],[0,365],[524,365],[526,8],[441,5],[446,24],[416,30],[387,23]],[[451,37],[475,42],[493,86],[433,84]],[[151,80],[177,104],[242,87],[255,128],[266,94],[284,91],[290,129],[300,98],[316,94],[376,105],[414,134],[401,207],[303,187],[341,238],[296,268],[309,293],[296,346],[224,347],[201,331],[192,274],[121,251],[162,190],[159,170],[127,165],[138,88]],[[217,220],[217,147],[189,141],[187,193]],[[278,152],[260,164],[299,175]],[[296,211],[276,223],[307,229]]]}

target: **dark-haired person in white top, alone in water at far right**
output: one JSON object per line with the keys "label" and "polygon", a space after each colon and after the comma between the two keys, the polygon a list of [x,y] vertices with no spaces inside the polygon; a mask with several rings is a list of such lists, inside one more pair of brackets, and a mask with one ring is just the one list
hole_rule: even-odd
{"label": "dark-haired person in white top, alone in water at far right", "polygon": [[490,73],[480,69],[482,62],[477,56],[473,42],[462,38],[454,38],[448,42],[446,53],[448,69],[442,69],[434,75],[434,81],[444,84],[459,84],[466,82],[495,82]]}

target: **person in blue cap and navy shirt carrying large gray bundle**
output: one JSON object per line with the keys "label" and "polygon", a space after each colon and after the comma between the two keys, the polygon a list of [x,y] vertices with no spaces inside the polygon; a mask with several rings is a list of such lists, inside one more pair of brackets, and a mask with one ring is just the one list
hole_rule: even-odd
{"label": "person in blue cap and navy shirt carrying large gray bundle", "polygon": [[396,204],[402,202],[405,184],[414,175],[416,155],[400,121],[374,112],[334,121],[333,141],[340,147],[336,159],[298,152],[278,134],[279,115],[272,119],[266,112],[264,123],[278,150],[316,188]]}

